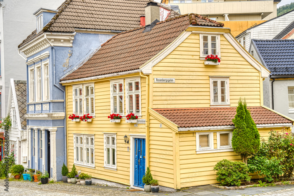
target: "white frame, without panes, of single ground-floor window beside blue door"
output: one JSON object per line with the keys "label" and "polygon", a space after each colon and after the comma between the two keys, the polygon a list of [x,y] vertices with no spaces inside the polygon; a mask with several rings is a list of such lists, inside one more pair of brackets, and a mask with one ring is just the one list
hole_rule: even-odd
{"label": "white frame, without panes, of single ground-floor window beside blue door", "polygon": [[[116,146],[117,146],[117,142],[116,142],[116,133],[103,133],[103,138],[104,138],[104,168],[105,169],[110,169],[110,170],[117,170],[117,160],[116,160]],[[109,137],[109,144],[107,144],[107,137]],[[112,144],[112,138],[114,137],[114,141],[115,144]],[[107,150],[106,148],[110,148],[110,153],[109,153],[109,164],[107,163]],[[113,155],[112,155],[112,150],[114,149],[114,161],[115,161],[115,165],[111,164],[111,160],[113,160]]]}

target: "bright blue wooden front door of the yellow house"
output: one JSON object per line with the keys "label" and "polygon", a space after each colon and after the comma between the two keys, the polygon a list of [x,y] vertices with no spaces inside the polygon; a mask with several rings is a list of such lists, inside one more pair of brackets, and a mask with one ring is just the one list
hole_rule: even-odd
{"label": "bright blue wooden front door of the yellow house", "polygon": [[145,174],[145,139],[135,138],[135,158],[134,158],[134,186],[144,187],[142,177]]}

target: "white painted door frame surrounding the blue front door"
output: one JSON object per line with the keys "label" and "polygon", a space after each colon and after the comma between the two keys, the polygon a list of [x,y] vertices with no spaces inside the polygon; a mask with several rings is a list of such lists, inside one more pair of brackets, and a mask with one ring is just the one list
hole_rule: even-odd
{"label": "white painted door frame surrounding the blue front door", "polygon": [[[134,148],[135,148],[135,138],[143,138],[145,139],[146,141],[146,135],[143,135],[143,134],[129,134],[131,136],[130,138],[130,146],[131,146],[131,149],[130,149],[130,187],[132,188],[135,188],[135,189],[141,189],[140,187],[135,187],[133,186],[134,184],[134,159],[135,159],[135,154],[134,154]],[[145,146],[145,149],[147,149],[147,141],[145,142],[146,146]],[[146,151],[146,150],[145,150]],[[146,161],[146,159],[145,159]],[[146,168],[145,168],[145,171],[147,170],[147,164],[145,163],[146,165]]]}

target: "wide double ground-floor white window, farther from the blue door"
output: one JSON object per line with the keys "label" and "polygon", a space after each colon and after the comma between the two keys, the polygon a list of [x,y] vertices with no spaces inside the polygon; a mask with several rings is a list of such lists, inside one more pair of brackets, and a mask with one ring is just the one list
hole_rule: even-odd
{"label": "wide double ground-floor white window, farther from the blue door", "polygon": [[74,162],[94,167],[94,135],[74,134]]}

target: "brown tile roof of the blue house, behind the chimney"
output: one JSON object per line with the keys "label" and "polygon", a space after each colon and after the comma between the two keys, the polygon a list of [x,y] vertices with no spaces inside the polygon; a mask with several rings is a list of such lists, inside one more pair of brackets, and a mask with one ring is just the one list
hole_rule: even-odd
{"label": "brown tile roof of the blue house, behind the chimney", "polygon": [[[19,47],[46,31],[74,32],[74,28],[128,31],[138,28],[140,16],[145,13],[144,7],[149,1],[152,0],[66,0],[44,29],[37,35],[36,30],[33,31]],[[172,11],[169,18],[176,16],[179,14]]]}

